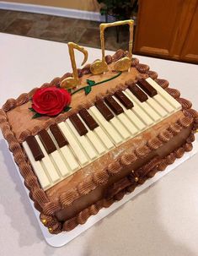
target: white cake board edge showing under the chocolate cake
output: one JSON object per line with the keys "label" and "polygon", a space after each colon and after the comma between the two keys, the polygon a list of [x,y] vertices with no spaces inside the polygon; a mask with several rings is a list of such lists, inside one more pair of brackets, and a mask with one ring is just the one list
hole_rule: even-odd
{"label": "white cake board edge showing under the chocolate cake", "polygon": [[[64,231],[57,235],[52,235],[51,233],[49,233],[48,229],[45,226],[43,226],[43,224],[40,221],[40,212],[38,210],[35,210],[33,201],[31,199],[29,199],[29,190],[25,187],[24,188],[25,188],[25,191],[27,192],[29,202],[32,205],[32,208],[35,212],[36,219],[39,222],[40,229],[43,233],[43,236],[45,237],[45,241],[52,247],[59,248],[59,247],[62,247],[63,245],[66,245],[68,242],[72,241],[73,238],[78,237],[81,233],[83,233],[83,231],[88,230],[89,227],[94,226],[95,223],[102,220],[105,216],[109,215],[114,210],[118,209],[122,204],[125,204],[127,201],[129,201],[130,199],[135,197],[138,193],[141,193],[145,188],[151,186],[154,182],[157,182],[161,177],[163,177],[167,173],[173,171],[174,168],[176,168],[183,162],[190,159],[190,157],[195,155],[197,152],[198,152],[198,142],[194,141],[193,150],[191,150],[190,152],[186,152],[185,155],[181,159],[176,159],[176,161],[174,161],[174,164],[168,166],[165,169],[165,171],[157,172],[154,177],[149,178],[140,187],[137,187],[132,193],[126,194],[123,199],[121,199],[118,202],[115,202],[109,208],[104,208],[104,209],[99,210],[99,213],[97,215],[90,216],[88,218],[88,221],[85,224],[78,225],[72,231]],[[15,162],[14,162],[14,164],[15,164]],[[18,169],[18,166],[16,166],[16,167]],[[20,174],[19,174],[19,177],[24,185],[23,177]]]}

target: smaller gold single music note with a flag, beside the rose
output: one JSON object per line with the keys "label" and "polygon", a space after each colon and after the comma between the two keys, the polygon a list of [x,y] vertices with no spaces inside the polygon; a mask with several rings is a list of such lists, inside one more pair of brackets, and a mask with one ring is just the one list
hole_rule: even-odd
{"label": "smaller gold single music note with a flag, beside the rose", "polygon": [[66,89],[72,89],[74,87],[77,87],[77,85],[79,83],[78,69],[77,69],[77,64],[76,64],[76,60],[75,60],[74,49],[77,49],[78,51],[83,52],[84,59],[83,59],[83,63],[81,64],[82,66],[88,60],[88,51],[85,50],[83,48],[83,46],[78,46],[78,44],[75,44],[73,42],[68,42],[67,45],[68,45],[68,48],[69,48],[70,61],[72,63],[72,75],[73,76],[68,77],[66,79],[63,79],[60,86],[62,88],[66,88]]}

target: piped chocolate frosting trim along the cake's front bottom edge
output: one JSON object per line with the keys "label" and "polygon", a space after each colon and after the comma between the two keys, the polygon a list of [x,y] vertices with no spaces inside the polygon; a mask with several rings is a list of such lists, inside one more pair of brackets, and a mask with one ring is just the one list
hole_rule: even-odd
{"label": "piped chocolate frosting trim along the cake's front bottom edge", "polygon": [[107,194],[104,199],[101,199],[95,204],[89,206],[87,209],[82,210],[72,219],[65,221],[62,224],[62,231],[71,231],[79,224],[83,225],[88,220],[88,217],[96,215],[102,208],[110,207],[110,205],[115,203],[115,201],[122,199],[126,193],[134,191],[137,186],[143,184],[148,178],[154,177],[157,172],[165,170],[165,168],[173,164],[177,158],[182,157],[185,151],[188,152],[191,149],[192,144],[185,143],[179,149],[174,150],[174,152],[170,153],[163,159],[154,157],[153,160],[149,161],[145,166],[136,170],[136,175],[139,173],[139,175],[142,175],[142,178],[139,178],[136,182],[136,177],[133,173],[131,173],[131,178],[122,178],[119,182],[116,182],[113,185],[110,191],[111,194]]}

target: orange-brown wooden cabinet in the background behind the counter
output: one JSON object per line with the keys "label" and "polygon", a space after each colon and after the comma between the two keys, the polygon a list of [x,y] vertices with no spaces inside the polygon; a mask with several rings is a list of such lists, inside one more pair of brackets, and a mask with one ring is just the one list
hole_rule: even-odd
{"label": "orange-brown wooden cabinet in the background behind the counter", "polygon": [[134,52],[198,63],[198,0],[139,0]]}

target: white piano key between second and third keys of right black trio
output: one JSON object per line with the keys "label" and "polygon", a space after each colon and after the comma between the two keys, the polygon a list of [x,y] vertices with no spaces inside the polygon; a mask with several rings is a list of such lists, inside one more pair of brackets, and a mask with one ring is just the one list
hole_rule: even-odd
{"label": "white piano key between second and third keys of right black trio", "polygon": [[[144,128],[146,128],[146,125],[144,123],[142,123],[141,119],[138,118],[136,116],[136,114],[134,112],[132,112],[132,109],[126,109],[126,107],[124,105],[122,105],[122,103],[115,97],[115,96],[112,96],[115,101],[117,101],[120,106],[123,108],[124,110],[124,113],[126,115],[126,117],[129,118],[129,120],[131,121],[131,124],[133,126],[135,126],[136,128],[138,128],[139,130],[142,130]],[[127,96],[126,96],[127,97]],[[136,132],[135,132],[136,133]]]}

